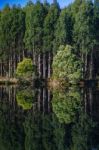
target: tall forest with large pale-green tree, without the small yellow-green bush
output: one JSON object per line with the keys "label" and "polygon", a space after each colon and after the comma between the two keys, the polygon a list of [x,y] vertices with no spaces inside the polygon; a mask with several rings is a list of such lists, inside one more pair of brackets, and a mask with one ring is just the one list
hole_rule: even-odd
{"label": "tall forest with large pale-green tree, without the small yellow-green bush", "polygon": [[40,79],[98,79],[98,46],[99,0],[65,8],[57,0],[28,1],[0,11],[0,77],[15,77],[18,64],[31,59]]}

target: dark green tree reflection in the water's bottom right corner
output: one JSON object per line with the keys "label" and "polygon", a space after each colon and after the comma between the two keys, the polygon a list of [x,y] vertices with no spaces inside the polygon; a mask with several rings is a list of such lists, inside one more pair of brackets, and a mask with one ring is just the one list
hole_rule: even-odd
{"label": "dark green tree reflection in the water's bottom right corner", "polygon": [[71,150],[93,149],[92,137],[95,127],[96,123],[87,114],[81,113],[78,122],[72,127]]}

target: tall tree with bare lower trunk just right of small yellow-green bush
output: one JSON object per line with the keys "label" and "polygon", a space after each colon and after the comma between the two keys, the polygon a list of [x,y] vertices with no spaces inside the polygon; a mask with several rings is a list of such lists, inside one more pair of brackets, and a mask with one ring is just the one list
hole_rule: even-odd
{"label": "tall tree with bare lower trunk just right of small yellow-green bush", "polygon": [[26,48],[32,51],[34,64],[38,66],[39,77],[41,77],[40,62],[43,46],[43,23],[46,11],[44,5],[40,1],[28,7],[31,9],[26,12],[26,32],[24,41],[26,42]]}

